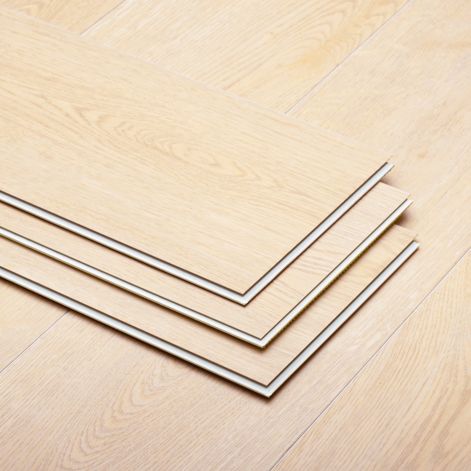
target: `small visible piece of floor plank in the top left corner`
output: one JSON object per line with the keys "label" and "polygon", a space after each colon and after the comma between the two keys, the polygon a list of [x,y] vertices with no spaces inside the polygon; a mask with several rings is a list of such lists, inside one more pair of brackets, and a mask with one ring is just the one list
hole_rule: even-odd
{"label": "small visible piece of floor plank in the top left corner", "polygon": [[121,2],[122,0],[1,0],[0,5],[80,34]]}

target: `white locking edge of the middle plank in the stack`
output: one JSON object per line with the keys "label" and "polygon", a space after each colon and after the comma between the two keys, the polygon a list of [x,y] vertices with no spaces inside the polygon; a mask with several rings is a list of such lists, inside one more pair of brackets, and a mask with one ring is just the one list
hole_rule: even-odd
{"label": "white locking edge of the middle plank in the stack", "polygon": [[205,325],[213,327],[215,329],[220,330],[221,332],[227,333],[228,335],[232,335],[233,337],[238,338],[239,340],[246,341],[255,345],[257,347],[263,348],[265,347],[268,342],[273,340],[278,333],[280,333],[286,325],[288,325],[294,317],[296,317],[303,309],[305,309],[309,303],[314,300],[333,280],[341,274],[341,272],[347,268],[350,263],[352,263],[362,252],[366,250],[366,248],[372,244],[390,225],[402,214],[403,211],[412,203],[411,200],[406,200],[404,203],[398,206],[398,208],[393,211],[390,216],[385,219],[380,226],[378,226],[365,240],[357,246],[357,248],[351,252],[344,260],[341,261],[337,267],[333,269],[333,271],[328,274],[324,280],[322,280],[314,289],[305,297],[303,298],[286,316],[283,317],[273,328],[271,328],[267,334],[265,334],[261,339],[256,337],[252,334],[246,333],[242,330],[236,329],[230,325],[227,325],[223,322],[220,322],[216,319],[213,319],[209,316],[201,314],[193,309],[189,309],[186,306],[183,306],[177,302],[164,298],[158,294],[153,292],[147,291],[146,289],[140,288],[135,284],[131,284],[121,278],[116,276],[110,275],[102,270],[94,268],[86,263],[83,263],[79,260],[73,259],[61,252],[57,252],[49,247],[39,244],[37,242],[32,241],[22,235],[16,234],[8,229],[0,227],[0,235],[5,237],[8,240],[16,242],[17,244],[24,245],[29,249],[32,249],[36,252],[39,252],[43,255],[46,255],[54,260],[60,261],[70,267],[76,268],[78,270],[87,273],[88,275],[95,276],[107,283],[113,284],[122,288],[126,291],[132,292],[137,296],[140,296],[146,300],[152,301],[156,304],[159,304],[165,308],[171,309],[173,311],[178,312],[184,316],[190,317],[198,322],[201,322]]}

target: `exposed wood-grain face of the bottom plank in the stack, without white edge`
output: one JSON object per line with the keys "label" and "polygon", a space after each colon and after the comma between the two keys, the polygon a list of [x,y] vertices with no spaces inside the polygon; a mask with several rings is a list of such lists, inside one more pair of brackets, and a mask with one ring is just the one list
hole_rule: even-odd
{"label": "exposed wood-grain face of the bottom plank in the stack, without white edge", "polygon": [[235,339],[3,237],[0,237],[0,267],[267,385],[414,237],[414,232],[392,226],[265,349]]}

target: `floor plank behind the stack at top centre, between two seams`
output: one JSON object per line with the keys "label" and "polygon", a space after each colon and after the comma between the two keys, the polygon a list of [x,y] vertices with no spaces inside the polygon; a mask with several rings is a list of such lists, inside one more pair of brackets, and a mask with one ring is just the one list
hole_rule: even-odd
{"label": "floor plank behind the stack at top centre, between two seams", "polygon": [[285,113],[406,0],[128,0],[84,36]]}

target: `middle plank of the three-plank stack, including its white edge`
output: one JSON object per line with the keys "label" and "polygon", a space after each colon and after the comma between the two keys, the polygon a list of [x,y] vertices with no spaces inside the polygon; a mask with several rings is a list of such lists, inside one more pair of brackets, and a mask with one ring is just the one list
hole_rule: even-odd
{"label": "middle plank of the three-plank stack, including its white edge", "polygon": [[378,183],[245,307],[5,203],[0,235],[263,347],[398,218],[407,195]]}

